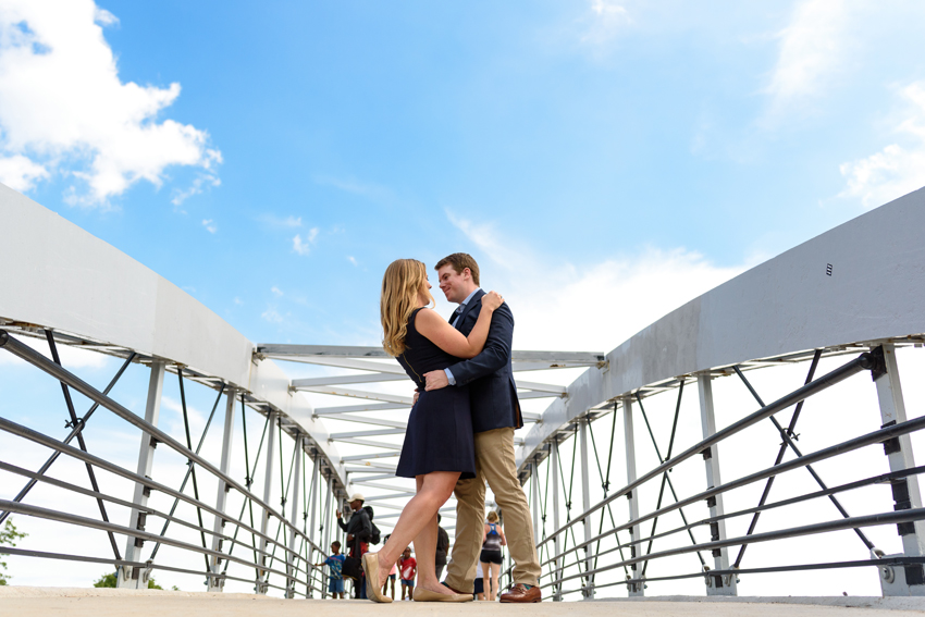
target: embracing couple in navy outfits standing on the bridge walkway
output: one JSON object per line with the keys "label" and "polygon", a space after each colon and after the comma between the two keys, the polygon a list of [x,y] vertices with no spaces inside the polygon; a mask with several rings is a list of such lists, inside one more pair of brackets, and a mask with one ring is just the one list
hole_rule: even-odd
{"label": "embracing couple in navy outfits standing on the bridge walkway", "polygon": [[[502,602],[540,602],[540,562],[527,497],[517,479],[514,431],[523,425],[510,366],[514,316],[495,292],[479,287],[479,266],[456,252],[435,267],[440,288],[459,308],[447,322],[432,309],[427,267],[399,259],[382,280],[383,346],[417,385],[418,395],[396,474],[414,478],[408,502],[379,553],[363,555],[367,597],[382,593],[393,564],[412,541],[418,602],[472,600],[482,547],[485,482],[502,509],[515,585]],[[437,510],[455,493],[456,542],[446,581],[436,578]]]}

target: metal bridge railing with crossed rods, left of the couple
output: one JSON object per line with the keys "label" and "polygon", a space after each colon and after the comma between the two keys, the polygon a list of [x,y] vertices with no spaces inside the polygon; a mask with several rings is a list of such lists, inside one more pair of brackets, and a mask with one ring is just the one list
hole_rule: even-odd
{"label": "metal bridge railing with crossed rods, left of the couple", "polygon": [[[307,435],[299,432],[295,422],[287,422],[281,414],[256,405],[245,392],[157,358],[144,359],[150,367],[150,375],[146,412],[141,418],[109,396],[126,369],[143,359],[139,355],[127,353],[114,378],[104,388],[98,390],[61,366],[55,338],[66,337],[45,331],[50,351],[47,357],[23,342],[25,337],[21,334],[26,333],[36,334],[24,330],[11,334],[0,330],[0,353],[25,360],[60,383],[70,431],[59,440],[35,427],[0,418],[0,430],[14,435],[23,445],[30,443],[51,452],[36,471],[18,466],[9,456],[12,454],[9,451],[0,456],[0,471],[23,481],[23,488],[12,499],[0,499],[0,522],[11,514],[18,514],[75,526],[84,531],[97,530],[101,532],[101,540],[107,538],[100,542],[100,548],[110,548],[112,555],[10,546],[0,547],[0,552],[111,564],[116,567],[119,587],[147,588],[152,572],[163,570],[205,577],[210,591],[221,591],[225,581],[237,581],[252,583],[255,591],[260,593],[276,589],[287,597],[325,595],[326,577],[314,563],[328,553],[326,544],[332,538],[338,535],[337,532],[332,535],[331,511],[335,507],[332,506],[332,477],[329,473],[325,479],[324,457],[312,451]],[[178,380],[183,414],[181,436],[171,435],[158,425],[164,378],[171,372]],[[203,388],[203,384],[212,390],[215,398],[201,435],[194,440],[187,391]],[[92,403],[82,416],[75,407],[77,394]],[[222,399],[221,448],[220,453],[213,453],[217,460],[210,460],[201,451]],[[135,470],[88,452],[84,435],[91,417],[99,410],[140,431]],[[250,430],[248,416],[251,417]],[[218,424],[215,420],[214,425]],[[260,425],[262,430],[255,434]],[[258,443],[249,443],[255,436],[259,436]],[[231,476],[235,442],[238,445],[243,442],[244,446],[244,452],[236,455],[244,459],[243,480]],[[159,473],[153,466],[156,452],[158,459],[164,459],[161,466],[169,466],[171,458],[185,464],[178,486],[171,485],[166,479],[158,480]],[[62,458],[86,467],[90,489],[55,478],[53,466]],[[275,482],[280,483],[279,491]],[[52,498],[45,492],[41,499],[45,505],[29,503],[28,495],[37,484],[53,491]],[[107,486],[120,486],[124,491],[107,491]],[[258,489],[262,489],[262,495],[257,494]],[[214,501],[210,499],[212,496]],[[271,503],[271,496],[273,499],[280,497],[279,505]],[[99,518],[74,514],[76,504],[87,498],[96,502]],[[49,502],[58,507],[47,507]],[[121,523],[118,516],[124,516],[126,511],[130,513],[127,526]],[[120,551],[122,541],[125,542],[124,552]],[[161,548],[165,551],[159,556]]]}

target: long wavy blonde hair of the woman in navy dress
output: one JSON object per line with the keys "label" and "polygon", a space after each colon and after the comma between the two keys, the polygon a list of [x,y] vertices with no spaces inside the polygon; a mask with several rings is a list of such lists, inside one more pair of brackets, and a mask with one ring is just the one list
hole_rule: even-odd
{"label": "long wavy blonde hair of the woman in navy dress", "polygon": [[390,356],[405,353],[408,318],[418,308],[421,294],[433,304],[427,286],[427,266],[417,259],[396,259],[385,269],[379,312],[382,318],[382,346]]}

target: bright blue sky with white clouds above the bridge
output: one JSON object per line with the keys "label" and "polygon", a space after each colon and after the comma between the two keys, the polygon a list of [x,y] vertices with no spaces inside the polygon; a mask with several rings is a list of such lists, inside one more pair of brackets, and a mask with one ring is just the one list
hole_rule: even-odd
{"label": "bright blue sky with white clouds above the bridge", "polygon": [[397,257],[728,273],[925,184],[914,2],[4,4],[2,180],[255,341],[375,344]]}

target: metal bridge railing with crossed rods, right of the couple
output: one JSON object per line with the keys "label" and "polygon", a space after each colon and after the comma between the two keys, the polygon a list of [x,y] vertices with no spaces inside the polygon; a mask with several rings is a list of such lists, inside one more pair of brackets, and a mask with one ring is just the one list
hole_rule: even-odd
{"label": "metal bridge railing with crossed rods, right of the couple", "polygon": [[[733,365],[639,388],[576,417],[543,447],[538,448],[532,459],[523,464],[522,479],[527,483],[525,488],[533,507],[544,594],[557,600],[571,594],[590,599],[607,588],[620,587],[626,588],[630,595],[643,595],[649,583],[700,579],[707,594],[735,595],[739,577],[744,575],[861,567],[878,571],[885,595],[925,594],[925,556],[922,552],[925,508],[922,507],[918,490],[918,474],[925,471],[925,467],[915,466],[910,441],[912,433],[925,428],[925,417],[906,417],[896,358],[898,342],[901,346],[921,346],[923,338],[912,336],[883,342],[869,347],[867,351],[861,351],[861,346],[844,346],[791,355],[786,358],[787,363],[809,363],[804,383],[770,403],[762,399],[745,372],[760,367],[767,370],[769,366],[782,363],[784,358]],[[824,357],[829,358],[829,363],[841,363],[818,375],[819,362]],[[838,390],[842,382],[852,378],[856,388],[861,384],[856,383],[860,378],[854,375],[859,373],[873,377],[867,387],[876,391],[881,428],[837,441],[814,452],[802,452],[797,444],[799,437],[795,430],[804,403],[814,405],[813,397],[822,393],[831,395],[828,391]],[[758,409],[717,430],[713,383],[718,377],[726,375],[744,386]],[[703,437],[694,443],[690,443],[690,435],[684,435],[684,439],[678,434],[686,386],[687,390],[691,386],[698,390]],[[671,396],[671,393],[675,394],[674,405],[670,406],[674,407],[674,415],[665,414],[658,418],[658,422],[654,421],[651,410],[648,412],[646,408],[659,397]],[[661,406],[666,407],[665,402]],[[839,412],[830,406],[824,411],[819,411],[818,407],[816,405],[816,414]],[[790,417],[782,423],[778,417],[786,412]],[[730,416],[740,415],[733,412]],[[669,418],[670,422],[667,421]],[[838,421],[838,418],[830,420]],[[732,471],[736,477],[721,480],[720,447],[726,448],[727,455],[730,454],[730,441],[742,439],[744,433],[761,423],[773,423],[772,434],[779,439],[773,465],[741,473],[741,466],[730,469],[730,461],[724,459],[724,476]],[[644,424],[644,429],[641,424]],[[667,446],[662,449],[656,433],[665,433],[668,427],[670,433]],[[615,441],[620,428],[622,439]],[[657,461],[642,473],[636,469],[636,437],[640,433],[650,437]],[[681,441],[690,445],[675,454]],[[662,445],[666,445],[664,441]],[[762,451],[757,445],[753,447],[756,453]],[[843,460],[862,448],[883,448],[890,471],[828,485],[823,473],[814,468],[814,465],[818,467],[826,465],[826,461]],[[626,472],[627,480],[614,490],[612,469],[617,466],[613,465],[613,457],[619,451],[626,456],[626,465],[619,467]],[[570,469],[564,468],[563,455],[570,464]],[[698,476],[691,466],[699,467],[701,460],[705,473],[700,473],[700,482],[691,482],[690,478]],[[832,464],[828,465],[830,470]],[[869,469],[859,466],[856,460],[849,461],[844,467],[861,471]],[[794,495],[791,483],[785,489],[786,497],[770,499],[775,480],[786,481],[785,478],[801,473],[802,470],[806,470],[812,478],[813,490]],[[844,473],[838,476],[842,478]],[[592,503],[591,484],[597,481],[601,482],[603,496]],[[580,486],[575,491],[577,484]],[[891,489],[892,499],[883,498],[883,492],[867,491],[864,493],[867,503],[863,514],[849,514],[841,501],[849,492],[863,492],[884,485]],[[725,509],[724,502],[730,503],[730,496],[733,503],[742,504],[743,499],[756,496],[756,488],[762,489],[756,505],[737,507],[731,511]],[[805,484],[800,488],[807,489]],[[582,498],[578,508],[571,504],[574,495]],[[622,509],[624,501],[629,504],[628,511]],[[830,502],[830,506],[826,507],[826,502]],[[856,499],[854,505],[856,507]],[[807,506],[817,514],[831,511],[838,518],[793,525],[793,521],[803,520]],[[575,509],[578,511],[575,513]],[[769,521],[772,529],[757,531],[758,517],[770,511],[776,515]],[[629,515],[628,519],[624,519],[625,514]],[[659,520],[669,519],[673,514],[675,525],[664,529],[663,522],[663,529],[659,530]],[[727,525],[744,529],[745,522],[748,530],[743,533],[727,533]],[[868,528],[885,526],[895,526],[902,541],[903,548],[898,554],[887,555],[875,544],[873,536],[868,536]],[[854,550],[856,556],[853,558],[835,559],[835,555],[823,554],[819,555],[822,558],[807,560],[798,557],[802,553],[794,553],[787,555],[782,564],[766,565],[760,558],[753,567],[743,565],[745,551],[751,545],[843,530],[853,531],[858,538],[858,548]],[[883,538],[883,534],[878,536]],[[694,556],[696,560],[679,559],[682,555]],[[665,564],[657,566],[662,562]],[[650,566],[653,568],[650,569]],[[653,573],[654,570],[658,570],[658,573]],[[513,568],[508,567],[505,573],[508,582],[514,582]]]}

